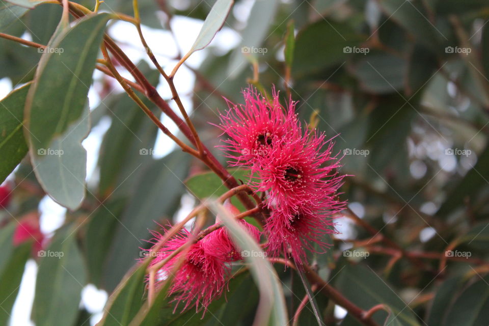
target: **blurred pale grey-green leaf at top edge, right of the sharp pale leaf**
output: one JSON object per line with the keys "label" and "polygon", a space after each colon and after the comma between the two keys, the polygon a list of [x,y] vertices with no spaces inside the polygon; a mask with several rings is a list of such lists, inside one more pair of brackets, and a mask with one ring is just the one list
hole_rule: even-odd
{"label": "blurred pale grey-green leaf at top edge, right of the sharp pale leaf", "polygon": [[277,8],[277,0],[255,1],[246,28],[241,32],[241,43],[232,52],[227,71],[229,78],[234,79],[246,67],[244,53],[252,53],[267,38]]}

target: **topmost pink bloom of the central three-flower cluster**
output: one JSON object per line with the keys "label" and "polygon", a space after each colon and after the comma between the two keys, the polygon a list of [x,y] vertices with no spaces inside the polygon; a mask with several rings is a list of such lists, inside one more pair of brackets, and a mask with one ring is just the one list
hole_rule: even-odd
{"label": "topmost pink bloom of the central three-flower cluster", "polygon": [[222,148],[232,158],[230,165],[251,167],[257,159],[267,156],[285,135],[296,131],[297,118],[295,103],[290,100],[283,107],[275,90],[271,102],[251,86],[243,91],[243,96],[244,105],[227,100],[229,110],[221,115],[219,127],[229,137]]}

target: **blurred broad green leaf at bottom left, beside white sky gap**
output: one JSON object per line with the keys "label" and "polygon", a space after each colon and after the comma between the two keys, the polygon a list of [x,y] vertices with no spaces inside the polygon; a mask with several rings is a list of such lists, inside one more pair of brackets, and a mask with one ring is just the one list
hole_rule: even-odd
{"label": "blurred broad green leaf at bottom left, beside white sky gap", "polygon": [[33,319],[37,326],[66,326],[78,315],[86,284],[84,261],[76,244],[76,226],[58,231],[42,256],[36,281]]}

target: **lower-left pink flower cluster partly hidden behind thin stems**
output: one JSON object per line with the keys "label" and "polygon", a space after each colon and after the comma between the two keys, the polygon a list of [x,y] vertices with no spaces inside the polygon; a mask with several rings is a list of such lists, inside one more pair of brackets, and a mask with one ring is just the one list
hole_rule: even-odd
{"label": "lower-left pink flower cluster partly hidden behind thin stems", "polygon": [[[229,202],[225,203],[225,208],[234,212],[237,210]],[[241,227],[248,231],[256,241],[260,239],[260,231],[253,225],[244,220],[239,220]],[[154,238],[151,243],[158,243],[163,235],[152,232]],[[175,250],[184,246],[188,241],[192,241],[192,233],[186,229],[181,230],[176,236],[168,240],[157,252],[151,253],[155,258],[150,266],[154,266],[167,259]],[[151,250],[149,250],[151,252]],[[185,255],[182,258],[182,255]],[[182,265],[178,270],[174,267],[180,259]],[[225,228],[217,229],[201,240],[191,244],[188,252],[181,252],[162,266],[156,275],[157,284],[168,278],[171,273],[175,273],[169,294],[174,295],[173,301],[176,302],[175,310],[182,303],[183,309],[196,306],[196,310],[207,309],[207,306],[222,295],[231,277],[230,263],[241,260],[241,254],[230,239],[228,230]]]}

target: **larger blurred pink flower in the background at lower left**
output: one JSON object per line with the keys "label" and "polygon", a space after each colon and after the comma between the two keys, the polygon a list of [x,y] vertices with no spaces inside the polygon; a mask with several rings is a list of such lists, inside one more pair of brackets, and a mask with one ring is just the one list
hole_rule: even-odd
{"label": "larger blurred pink flower in the background at lower left", "polygon": [[13,236],[14,246],[19,246],[25,241],[34,242],[32,248],[34,256],[43,248],[44,234],[39,227],[39,214],[37,212],[25,215],[15,228]]}

